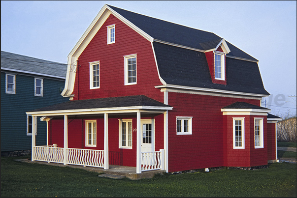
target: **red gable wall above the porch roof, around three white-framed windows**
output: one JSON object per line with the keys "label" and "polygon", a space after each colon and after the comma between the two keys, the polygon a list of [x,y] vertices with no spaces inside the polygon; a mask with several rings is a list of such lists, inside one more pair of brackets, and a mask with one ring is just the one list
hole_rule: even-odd
{"label": "red gable wall above the porch roof, around three white-framed windows", "polygon": [[[115,43],[107,45],[106,26],[115,24]],[[124,85],[124,57],[137,54],[137,85]],[[90,89],[89,62],[100,61],[100,88]],[[74,100],[146,95],[164,101],[163,93],[154,86],[162,85],[158,76],[151,42],[110,16],[78,58]]]}

